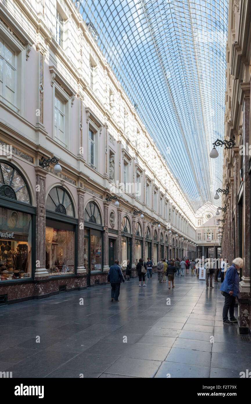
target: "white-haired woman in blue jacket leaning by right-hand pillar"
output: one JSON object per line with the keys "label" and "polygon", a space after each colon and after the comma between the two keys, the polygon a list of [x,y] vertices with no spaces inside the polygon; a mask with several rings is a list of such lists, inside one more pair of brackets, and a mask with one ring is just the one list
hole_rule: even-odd
{"label": "white-haired woman in blue jacket leaning by right-hand pillar", "polygon": [[[239,274],[237,269],[243,267],[243,259],[236,258],[233,260],[232,265],[226,271],[226,276],[220,290],[222,291],[222,295],[225,297],[225,304],[223,307],[222,317],[223,324],[232,325],[232,323],[237,322],[237,318],[234,317],[234,305],[235,305],[235,297],[237,296],[239,290]],[[228,320],[228,310],[230,321]]]}

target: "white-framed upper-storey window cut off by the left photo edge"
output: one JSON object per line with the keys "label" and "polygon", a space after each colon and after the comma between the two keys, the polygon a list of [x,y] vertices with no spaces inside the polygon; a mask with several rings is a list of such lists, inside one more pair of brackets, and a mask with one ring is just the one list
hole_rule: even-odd
{"label": "white-framed upper-storey window cut off by the left photo edge", "polygon": [[0,38],[0,95],[16,105],[17,57],[15,51]]}

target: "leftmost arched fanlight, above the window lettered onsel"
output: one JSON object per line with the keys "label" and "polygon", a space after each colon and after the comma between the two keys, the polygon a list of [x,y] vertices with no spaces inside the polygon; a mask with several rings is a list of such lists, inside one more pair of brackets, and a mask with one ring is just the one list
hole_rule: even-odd
{"label": "leftmost arched fanlight, above the window lettered onsel", "polygon": [[25,179],[17,168],[6,162],[0,162],[0,196],[31,204]]}

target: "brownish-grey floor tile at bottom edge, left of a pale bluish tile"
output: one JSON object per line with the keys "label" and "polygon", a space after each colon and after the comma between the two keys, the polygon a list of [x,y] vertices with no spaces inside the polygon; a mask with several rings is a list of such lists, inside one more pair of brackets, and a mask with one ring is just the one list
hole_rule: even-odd
{"label": "brownish-grey floor tile at bottom edge, left of a pale bluish tile", "polygon": [[157,360],[118,358],[106,370],[106,373],[112,373],[113,375],[152,378],[160,365],[161,361]]}

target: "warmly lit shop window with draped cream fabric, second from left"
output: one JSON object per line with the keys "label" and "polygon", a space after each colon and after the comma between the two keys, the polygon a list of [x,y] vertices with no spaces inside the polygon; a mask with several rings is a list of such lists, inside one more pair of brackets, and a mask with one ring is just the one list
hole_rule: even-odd
{"label": "warmly lit shop window with draped cream fabric, second from left", "polygon": [[50,276],[75,273],[74,226],[46,219],[46,269]]}

